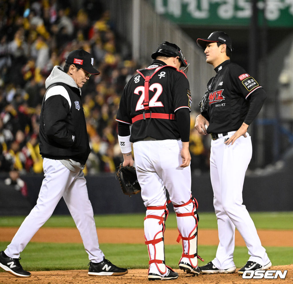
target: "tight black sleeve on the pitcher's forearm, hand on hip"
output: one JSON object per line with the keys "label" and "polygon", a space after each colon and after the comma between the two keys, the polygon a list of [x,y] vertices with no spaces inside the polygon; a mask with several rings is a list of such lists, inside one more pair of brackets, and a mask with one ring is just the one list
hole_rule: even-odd
{"label": "tight black sleeve on the pitcher's forearm, hand on hip", "polygon": [[257,90],[251,93],[249,100],[249,109],[245,117],[244,123],[246,123],[247,125],[251,124],[251,122],[260,112],[263,106],[263,102],[266,98],[267,94],[265,93],[263,88],[258,88]]}

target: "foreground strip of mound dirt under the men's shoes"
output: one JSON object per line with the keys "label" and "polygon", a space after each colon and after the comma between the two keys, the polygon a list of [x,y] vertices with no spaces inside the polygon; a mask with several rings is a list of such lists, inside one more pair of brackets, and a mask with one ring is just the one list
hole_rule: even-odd
{"label": "foreground strip of mound dirt under the men's shoes", "polygon": [[[273,266],[270,270],[288,270],[285,279],[243,279],[238,273],[232,274],[200,274],[193,277],[183,270],[175,269],[179,273],[176,280],[167,283],[172,284],[292,284],[293,264],[288,266]],[[143,284],[150,283],[147,279],[147,269],[130,269],[123,276],[88,276],[87,270],[64,270],[64,271],[34,271],[30,278],[17,278],[9,273],[0,273],[0,284]],[[157,281],[158,282],[158,281]]]}

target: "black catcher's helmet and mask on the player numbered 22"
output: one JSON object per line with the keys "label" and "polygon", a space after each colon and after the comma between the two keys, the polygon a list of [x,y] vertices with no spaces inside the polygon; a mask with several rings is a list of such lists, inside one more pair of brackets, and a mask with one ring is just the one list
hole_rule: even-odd
{"label": "black catcher's helmet and mask on the player numbered 22", "polygon": [[170,43],[168,41],[163,41],[157,48],[156,52],[154,52],[151,55],[151,58],[156,59],[157,56],[167,56],[167,57],[179,56],[179,59],[181,62],[180,68],[184,68],[181,71],[184,72],[185,74],[187,73],[188,65],[190,63],[188,63],[187,60],[185,60],[181,49],[176,44]]}

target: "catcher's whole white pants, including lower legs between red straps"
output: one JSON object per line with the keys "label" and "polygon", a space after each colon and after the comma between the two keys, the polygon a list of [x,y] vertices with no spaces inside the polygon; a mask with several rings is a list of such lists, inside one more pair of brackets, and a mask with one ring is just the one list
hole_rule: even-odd
{"label": "catcher's whole white pants, including lower legs between red straps", "polygon": [[[137,178],[142,188],[141,195],[146,207],[165,205],[167,201],[166,189],[170,200],[175,205],[185,204],[190,200],[190,166],[180,168],[180,164],[182,164],[181,149],[181,140],[138,141],[133,143]],[[189,204],[174,210],[180,213],[192,212],[193,206]],[[147,210],[146,216],[163,217],[164,214],[163,209]],[[193,216],[177,217],[178,229],[184,236],[189,236],[194,230],[195,224]],[[158,219],[149,218],[144,221],[146,241],[161,238],[163,231],[164,225],[158,222]],[[188,241],[184,241],[184,247],[186,252],[190,251]],[[148,250],[150,260],[164,260],[163,242],[155,246],[148,245]],[[185,262],[187,261],[186,259]],[[196,257],[195,261],[195,265],[197,265]],[[166,270],[165,265],[151,263],[149,273],[165,275],[168,270]]]}

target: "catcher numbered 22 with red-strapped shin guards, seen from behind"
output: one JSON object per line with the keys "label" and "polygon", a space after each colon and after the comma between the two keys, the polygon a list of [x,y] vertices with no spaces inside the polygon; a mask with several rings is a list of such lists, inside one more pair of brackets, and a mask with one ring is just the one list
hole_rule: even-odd
{"label": "catcher numbered 22 with red-strapped shin guards, seen from behind", "polygon": [[190,189],[192,98],[183,72],[188,62],[176,44],[162,42],[151,58],[151,65],[137,70],[126,84],[116,121],[123,165],[133,165],[133,146],[137,178],[147,209],[144,239],[149,253],[148,280],[172,280],[178,278],[178,273],[167,266],[165,260],[167,190],[176,212],[178,241],[181,239],[183,243],[179,268],[193,275],[200,273],[197,205]]}

